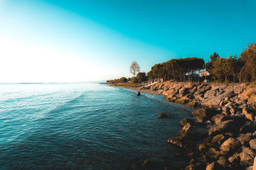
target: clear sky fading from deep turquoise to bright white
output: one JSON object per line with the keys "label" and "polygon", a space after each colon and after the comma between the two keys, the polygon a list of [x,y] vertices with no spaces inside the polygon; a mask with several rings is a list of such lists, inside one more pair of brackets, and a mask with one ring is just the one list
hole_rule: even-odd
{"label": "clear sky fading from deep turquoise to bright white", "polygon": [[255,0],[0,0],[0,82],[131,77],[170,59],[239,57]]}

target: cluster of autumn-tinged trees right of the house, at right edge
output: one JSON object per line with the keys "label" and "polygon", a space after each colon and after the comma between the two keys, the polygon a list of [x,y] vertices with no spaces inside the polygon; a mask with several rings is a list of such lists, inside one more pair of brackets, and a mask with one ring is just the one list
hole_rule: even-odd
{"label": "cluster of autumn-tinged trees right of the house, at right edge", "polygon": [[214,52],[210,59],[207,68],[212,73],[212,80],[227,83],[256,81],[256,43],[250,43],[239,58],[235,54],[226,59]]}

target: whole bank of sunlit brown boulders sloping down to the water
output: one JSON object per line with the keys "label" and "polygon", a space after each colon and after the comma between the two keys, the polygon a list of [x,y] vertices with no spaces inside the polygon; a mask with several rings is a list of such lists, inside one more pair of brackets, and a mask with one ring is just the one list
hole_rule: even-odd
{"label": "whole bank of sunlit brown boulders sloping down to the water", "polygon": [[256,85],[166,81],[148,90],[195,108],[168,142],[191,160],[184,169],[252,169],[256,156]]}

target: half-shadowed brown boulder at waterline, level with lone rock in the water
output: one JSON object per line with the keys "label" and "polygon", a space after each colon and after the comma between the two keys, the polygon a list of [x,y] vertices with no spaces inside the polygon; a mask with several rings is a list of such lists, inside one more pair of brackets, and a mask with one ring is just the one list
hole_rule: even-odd
{"label": "half-shadowed brown boulder at waterline, level with lone rock in the water", "polygon": [[199,108],[193,111],[193,115],[199,122],[205,122],[216,115],[216,110],[212,108]]}

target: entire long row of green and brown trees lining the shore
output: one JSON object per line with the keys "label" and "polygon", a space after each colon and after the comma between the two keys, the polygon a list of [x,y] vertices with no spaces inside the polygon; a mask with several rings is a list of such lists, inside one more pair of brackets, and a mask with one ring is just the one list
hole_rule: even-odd
{"label": "entire long row of green and brown trees lining the shore", "polygon": [[[206,66],[205,66],[206,65]],[[109,80],[113,83],[141,83],[147,80],[162,78],[163,81],[193,81],[201,70],[204,69],[211,73],[207,79],[218,82],[252,82],[256,81],[256,43],[250,43],[246,49],[241,52],[240,57],[230,55],[223,58],[214,52],[210,55],[209,62],[205,63],[204,59],[196,57],[187,57],[184,59],[171,59],[166,62],[155,64],[146,74],[139,72],[133,78],[120,78]],[[204,80],[204,78],[201,78]],[[199,78],[197,79],[199,80]]]}

